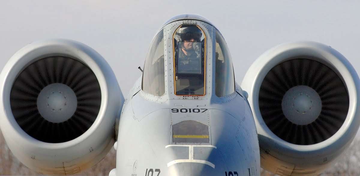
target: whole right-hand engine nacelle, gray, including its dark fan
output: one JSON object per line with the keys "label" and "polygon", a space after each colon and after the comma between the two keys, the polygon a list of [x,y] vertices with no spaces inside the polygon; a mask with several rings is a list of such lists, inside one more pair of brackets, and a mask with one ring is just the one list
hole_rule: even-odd
{"label": "whole right-hand engine nacelle, gray, including its dark fan", "polygon": [[359,128],[359,77],[333,48],[286,43],[262,54],[242,89],[249,95],[261,167],[278,175],[318,175]]}

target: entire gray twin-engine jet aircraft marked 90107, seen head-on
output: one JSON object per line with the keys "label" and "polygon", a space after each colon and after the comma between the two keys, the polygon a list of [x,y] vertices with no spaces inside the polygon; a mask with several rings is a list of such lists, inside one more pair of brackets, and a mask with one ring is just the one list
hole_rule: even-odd
{"label": "entire gray twin-engine jet aircraft marked 90107, seen head-on", "polygon": [[112,176],[318,175],[360,123],[359,77],[339,52],[278,45],[240,87],[224,38],[198,15],[163,25],[125,98],[103,57],[72,40],[27,45],[0,81],[6,143],[46,175],[81,172],[111,147]]}

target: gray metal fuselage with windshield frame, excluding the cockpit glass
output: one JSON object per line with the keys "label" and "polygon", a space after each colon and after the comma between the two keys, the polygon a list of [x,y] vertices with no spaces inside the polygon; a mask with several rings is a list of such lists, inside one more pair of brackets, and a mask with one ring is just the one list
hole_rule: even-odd
{"label": "gray metal fuselage with windshield frame, excluding the cockpit glass", "polygon": [[[260,175],[257,132],[244,96],[215,94],[216,29],[185,18],[163,28],[165,94],[148,94],[136,82],[128,96],[118,125],[117,167],[109,175]],[[198,25],[206,35],[204,96],[174,94],[172,37],[183,24]]]}

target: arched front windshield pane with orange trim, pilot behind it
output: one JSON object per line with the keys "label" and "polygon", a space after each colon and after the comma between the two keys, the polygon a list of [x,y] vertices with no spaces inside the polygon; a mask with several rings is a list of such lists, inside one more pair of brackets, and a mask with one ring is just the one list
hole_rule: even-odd
{"label": "arched front windshield pane with orange trim, pilot behind it", "polygon": [[174,33],[176,95],[205,95],[206,36],[196,25],[181,25]]}

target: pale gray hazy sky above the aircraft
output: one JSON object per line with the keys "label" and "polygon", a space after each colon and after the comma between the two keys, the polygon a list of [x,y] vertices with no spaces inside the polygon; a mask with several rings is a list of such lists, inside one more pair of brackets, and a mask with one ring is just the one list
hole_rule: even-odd
{"label": "pale gray hazy sky above the aircraft", "polygon": [[157,31],[171,17],[200,14],[224,36],[235,80],[267,49],[311,40],[341,52],[360,72],[360,1],[18,1],[0,6],[0,69],[32,41],[66,38],[99,52],[112,67],[124,95],[141,75]]}

